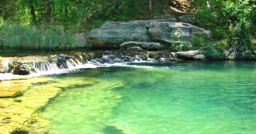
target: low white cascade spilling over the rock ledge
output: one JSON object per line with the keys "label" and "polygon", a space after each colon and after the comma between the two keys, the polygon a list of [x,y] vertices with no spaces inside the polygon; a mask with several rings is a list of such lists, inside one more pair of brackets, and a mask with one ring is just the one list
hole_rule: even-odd
{"label": "low white cascade spilling over the rock ledge", "polygon": [[[174,61],[173,54],[168,52],[147,51],[95,51],[70,52],[60,55],[35,55],[26,57],[1,57],[0,73],[27,75],[30,73],[58,73],[63,70],[86,68],[86,64],[102,65],[143,61]],[[1,70],[2,66],[2,70]]]}

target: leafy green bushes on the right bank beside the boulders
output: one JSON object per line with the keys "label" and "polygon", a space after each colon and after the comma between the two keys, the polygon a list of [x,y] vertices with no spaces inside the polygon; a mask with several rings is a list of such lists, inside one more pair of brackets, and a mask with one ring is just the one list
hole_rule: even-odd
{"label": "leafy green bushes on the right bank beside the boulders", "polygon": [[[253,23],[256,22],[255,0],[189,0],[188,2],[189,13],[197,18],[196,25],[213,31],[216,39],[227,40],[225,49],[228,58],[242,60],[255,55],[256,30]],[[199,43],[200,41],[201,39],[196,40]],[[196,44],[200,45],[199,43]]]}

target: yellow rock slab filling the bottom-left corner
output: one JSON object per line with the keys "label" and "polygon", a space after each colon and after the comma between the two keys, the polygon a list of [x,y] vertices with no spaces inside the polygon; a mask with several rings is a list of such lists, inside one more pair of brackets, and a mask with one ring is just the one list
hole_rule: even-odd
{"label": "yellow rock slab filling the bottom-left corner", "polygon": [[15,102],[12,98],[0,99],[1,133],[47,133],[50,122],[35,109]]}

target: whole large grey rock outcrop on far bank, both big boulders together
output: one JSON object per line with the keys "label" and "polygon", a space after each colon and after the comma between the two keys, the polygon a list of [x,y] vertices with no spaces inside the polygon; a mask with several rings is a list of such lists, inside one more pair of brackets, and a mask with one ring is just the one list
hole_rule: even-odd
{"label": "whole large grey rock outcrop on far bank, both big boulders together", "polygon": [[[133,44],[158,43],[162,46],[161,49],[165,50],[170,44],[190,44],[193,38],[199,35],[207,39],[212,38],[211,31],[193,26],[182,18],[189,18],[189,16],[170,15],[169,18],[161,20],[109,21],[102,27],[91,30],[87,38],[92,48],[120,48],[121,44],[132,41]],[[147,50],[158,51],[159,47]]]}

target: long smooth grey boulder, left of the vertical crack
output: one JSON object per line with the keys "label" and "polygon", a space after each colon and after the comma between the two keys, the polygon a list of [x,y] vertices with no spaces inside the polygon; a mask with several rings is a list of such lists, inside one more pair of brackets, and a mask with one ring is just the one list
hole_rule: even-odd
{"label": "long smooth grey boulder, left of the vertical crack", "polygon": [[99,29],[90,31],[88,39],[93,48],[119,47],[120,44],[126,41],[151,42],[146,25],[154,21],[177,22],[174,16],[166,20],[109,21]]}

